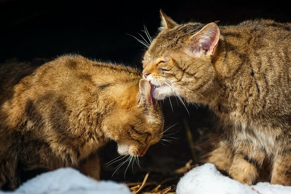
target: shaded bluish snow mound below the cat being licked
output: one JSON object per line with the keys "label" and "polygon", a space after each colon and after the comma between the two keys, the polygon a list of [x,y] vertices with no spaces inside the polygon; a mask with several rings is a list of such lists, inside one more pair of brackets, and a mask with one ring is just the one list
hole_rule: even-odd
{"label": "shaded bluish snow mound below the cat being licked", "polygon": [[96,181],[72,168],[43,173],[14,192],[0,194],[131,194],[128,187],[113,181]]}

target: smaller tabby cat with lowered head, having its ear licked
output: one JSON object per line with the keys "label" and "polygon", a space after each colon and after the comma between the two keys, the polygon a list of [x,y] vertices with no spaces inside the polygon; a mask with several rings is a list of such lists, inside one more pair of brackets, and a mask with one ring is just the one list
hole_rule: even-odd
{"label": "smaller tabby cat with lowered head, having its ear licked", "polygon": [[39,168],[99,179],[100,146],[113,140],[119,154],[143,156],[163,133],[162,107],[133,68],[67,55],[40,67],[6,63],[0,83],[2,189]]}

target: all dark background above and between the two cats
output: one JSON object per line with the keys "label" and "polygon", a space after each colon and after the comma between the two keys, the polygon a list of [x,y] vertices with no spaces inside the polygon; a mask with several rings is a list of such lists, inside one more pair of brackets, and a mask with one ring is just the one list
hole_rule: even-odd
{"label": "all dark background above and between the two cats", "polygon": [[[290,6],[281,1],[273,2],[0,0],[0,62],[11,58],[19,61],[29,61],[36,57],[53,59],[65,53],[77,53],[141,68],[145,48],[128,34],[138,36],[137,33],[146,25],[154,37],[160,26],[161,8],[178,23],[220,20],[219,25],[232,25],[255,18],[291,22]],[[124,178],[125,168],[121,168],[111,178],[117,164],[108,168],[102,166],[101,178],[136,182],[141,181],[145,173],[150,171],[152,181],[172,177],[174,182],[171,184],[175,188],[180,175],[173,176],[173,170],[182,167],[190,159],[197,159],[190,151],[182,119],[188,121],[194,143],[199,137],[197,130],[211,126],[212,121],[207,107],[189,105],[189,116],[175,98],[172,102],[174,113],[169,101],[165,101],[165,122],[167,127],[178,123],[171,131],[181,129],[172,135],[179,139],[166,146],[152,146],[146,156],[140,159],[142,170],[137,170],[137,165],[134,165],[134,170],[130,169]],[[114,143],[101,150],[103,164],[116,156]]]}

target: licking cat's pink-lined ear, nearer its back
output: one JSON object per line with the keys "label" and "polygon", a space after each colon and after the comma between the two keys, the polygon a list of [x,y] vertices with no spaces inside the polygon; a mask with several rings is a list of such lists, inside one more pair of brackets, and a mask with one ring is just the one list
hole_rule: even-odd
{"label": "licking cat's pink-lined ear, nearer its back", "polygon": [[199,32],[190,37],[190,52],[195,57],[202,54],[212,55],[219,40],[219,28],[215,23],[209,23]]}

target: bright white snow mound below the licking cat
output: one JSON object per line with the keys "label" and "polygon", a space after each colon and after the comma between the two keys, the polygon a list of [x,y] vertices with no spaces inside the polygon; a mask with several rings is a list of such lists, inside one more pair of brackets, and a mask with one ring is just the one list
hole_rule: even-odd
{"label": "bright white snow mound below the licking cat", "polygon": [[206,163],[192,169],[180,179],[177,194],[291,194],[291,187],[267,182],[244,185],[223,176],[214,164]]}

